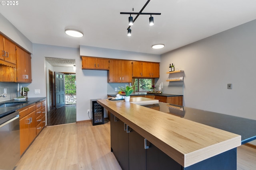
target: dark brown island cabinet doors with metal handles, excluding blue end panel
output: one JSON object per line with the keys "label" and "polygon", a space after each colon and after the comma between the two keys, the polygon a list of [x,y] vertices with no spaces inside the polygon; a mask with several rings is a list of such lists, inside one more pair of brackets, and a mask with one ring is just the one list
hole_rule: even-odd
{"label": "dark brown island cabinet doors with metal handles, excluding blue end panel", "polygon": [[122,170],[182,170],[182,166],[148,142],[144,149],[144,137],[110,114],[111,151]]}

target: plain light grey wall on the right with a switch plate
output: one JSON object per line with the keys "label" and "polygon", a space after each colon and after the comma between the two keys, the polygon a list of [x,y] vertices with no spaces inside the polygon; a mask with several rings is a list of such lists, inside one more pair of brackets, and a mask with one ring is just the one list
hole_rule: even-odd
{"label": "plain light grey wall on the right with a switch plate", "polygon": [[174,63],[185,74],[184,106],[256,120],[255,47],[256,20],[162,55],[160,81]]}

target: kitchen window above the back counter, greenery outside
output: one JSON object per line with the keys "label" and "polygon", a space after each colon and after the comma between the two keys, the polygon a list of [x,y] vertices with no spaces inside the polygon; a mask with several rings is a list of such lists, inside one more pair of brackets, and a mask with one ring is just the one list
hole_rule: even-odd
{"label": "kitchen window above the back counter, greenery outside", "polygon": [[135,92],[148,92],[152,90],[153,78],[134,78],[132,80],[133,84],[135,84]]}

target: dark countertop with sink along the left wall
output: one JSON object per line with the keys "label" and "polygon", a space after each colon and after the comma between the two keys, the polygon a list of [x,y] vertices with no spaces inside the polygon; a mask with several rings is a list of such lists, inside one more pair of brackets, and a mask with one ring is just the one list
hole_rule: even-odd
{"label": "dark countertop with sink along the left wall", "polygon": [[[41,98],[27,98],[25,100],[7,100],[4,102],[0,102],[0,106],[2,104],[8,104],[8,103],[20,103],[18,106],[12,106],[12,107],[0,107],[0,118],[4,117],[22,107],[28,106],[30,104],[34,104],[36,102],[44,100],[46,97],[41,97]],[[26,103],[24,103],[26,102]]]}

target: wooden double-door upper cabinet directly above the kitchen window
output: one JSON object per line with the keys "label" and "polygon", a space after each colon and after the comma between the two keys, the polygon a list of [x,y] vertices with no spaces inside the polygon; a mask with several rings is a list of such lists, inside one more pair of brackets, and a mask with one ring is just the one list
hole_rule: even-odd
{"label": "wooden double-door upper cabinet directly above the kitchen window", "polygon": [[159,63],[133,61],[132,76],[137,78],[159,78]]}

